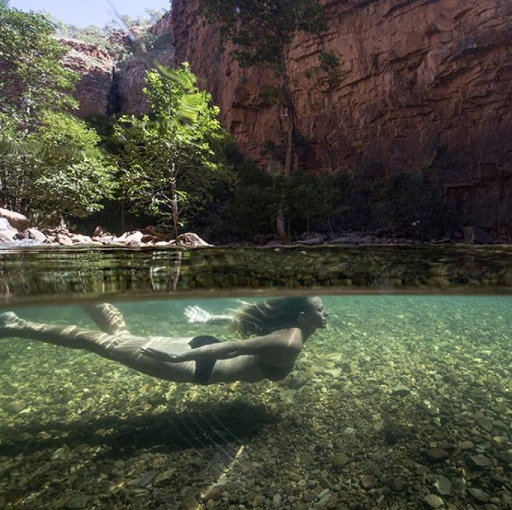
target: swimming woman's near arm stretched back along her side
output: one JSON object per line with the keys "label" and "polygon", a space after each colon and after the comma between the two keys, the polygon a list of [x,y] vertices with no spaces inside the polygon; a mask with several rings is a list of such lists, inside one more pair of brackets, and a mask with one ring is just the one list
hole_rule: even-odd
{"label": "swimming woman's near arm stretched back along her side", "polygon": [[302,334],[300,330],[288,330],[266,334],[263,337],[254,337],[241,341],[211,343],[208,346],[190,349],[185,352],[171,352],[162,349],[141,348],[144,355],[159,359],[180,363],[181,361],[197,361],[199,359],[228,359],[243,355],[264,355],[269,351],[302,349]]}

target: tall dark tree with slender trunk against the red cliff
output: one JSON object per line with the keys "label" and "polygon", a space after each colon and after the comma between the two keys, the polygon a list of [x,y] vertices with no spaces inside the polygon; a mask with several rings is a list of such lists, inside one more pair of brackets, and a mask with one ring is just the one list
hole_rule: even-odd
{"label": "tall dark tree with slender trunk against the red cliff", "polygon": [[317,0],[201,0],[201,7],[220,26],[223,41],[235,45],[233,55],[241,66],[266,66],[280,78],[288,123],[284,163],[288,176],[294,166],[296,115],[286,53],[298,33],[326,28],[323,7]]}

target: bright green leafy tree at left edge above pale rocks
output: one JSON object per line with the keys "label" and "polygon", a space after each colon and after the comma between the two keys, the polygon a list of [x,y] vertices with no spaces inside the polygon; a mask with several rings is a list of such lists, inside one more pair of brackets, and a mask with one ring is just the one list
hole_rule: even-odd
{"label": "bright green leafy tree at left edge above pale rocks", "polygon": [[42,15],[0,3],[0,197],[24,213],[84,216],[111,196],[98,135],[71,111],[77,75]]}

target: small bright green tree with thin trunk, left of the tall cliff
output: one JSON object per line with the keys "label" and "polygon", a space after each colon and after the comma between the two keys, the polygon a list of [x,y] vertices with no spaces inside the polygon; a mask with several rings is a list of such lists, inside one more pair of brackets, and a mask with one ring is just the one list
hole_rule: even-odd
{"label": "small bright green tree with thin trunk, left of the tall cliff", "polygon": [[122,186],[134,209],[171,223],[177,236],[203,208],[222,166],[213,150],[224,136],[219,108],[210,106],[209,93],[196,91],[193,122],[178,122],[191,92],[183,84],[196,84],[188,64],[172,74],[149,71],[146,83],[150,115],[122,117],[114,129],[123,144]]}

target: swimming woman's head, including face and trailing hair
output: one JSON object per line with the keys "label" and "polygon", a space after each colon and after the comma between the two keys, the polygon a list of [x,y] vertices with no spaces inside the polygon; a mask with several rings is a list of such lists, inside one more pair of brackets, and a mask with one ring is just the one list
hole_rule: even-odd
{"label": "swimming woman's head, including face and trailing hair", "polygon": [[243,335],[268,334],[284,328],[316,330],[326,324],[327,313],[319,297],[293,296],[247,305],[237,316],[236,329]]}

